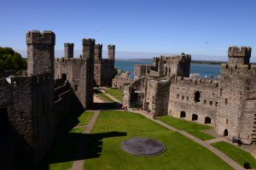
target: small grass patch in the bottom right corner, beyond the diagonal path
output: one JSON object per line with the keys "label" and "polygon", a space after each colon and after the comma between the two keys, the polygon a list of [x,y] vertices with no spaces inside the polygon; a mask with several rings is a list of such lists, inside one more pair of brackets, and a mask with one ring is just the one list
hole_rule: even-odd
{"label": "small grass patch in the bottom right corner, beyond the diagonal path", "polygon": [[232,144],[228,144],[223,141],[216,142],[212,144],[212,146],[214,146],[218,150],[221,150],[227,156],[230,156],[231,159],[236,161],[241,166],[243,166],[243,163],[247,161],[250,163],[250,167],[256,168],[256,160],[247,151],[241,150],[240,148],[237,148],[236,146],[233,146]]}

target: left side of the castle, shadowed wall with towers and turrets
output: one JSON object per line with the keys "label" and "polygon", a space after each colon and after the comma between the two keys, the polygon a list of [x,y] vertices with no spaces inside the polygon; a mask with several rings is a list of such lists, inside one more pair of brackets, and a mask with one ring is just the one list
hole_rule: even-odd
{"label": "left side of the castle, shadowed wall with towers and turrets", "polygon": [[111,84],[112,78],[107,79],[113,77],[112,45],[108,46],[109,61],[105,62],[99,54],[101,49],[90,38],[82,40],[80,58],[73,58],[73,43],[65,43],[64,57],[55,59],[52,31],[28,31],[26,44],[27,74],[6,72],[0,77],[0,169],[33,169],[67,116],[91,107],[98,77],[95,73],[101,72],[97,66],[109,63],[111,70],[101,73],[106,81],[98,79],[99,85]]}

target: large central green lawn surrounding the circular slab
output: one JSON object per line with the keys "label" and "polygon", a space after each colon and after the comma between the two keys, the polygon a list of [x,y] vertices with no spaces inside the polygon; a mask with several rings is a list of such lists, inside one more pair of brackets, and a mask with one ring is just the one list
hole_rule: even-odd
{"label": "large central green lawn surrounding the circular slab", "polygon": [[[159,156],[132,156],[120,149],[125,139],[148,137],[166,144]],[[90,134],[84,169],[232,169],[210,150],[146,117],[127,111],[101,111]]]}

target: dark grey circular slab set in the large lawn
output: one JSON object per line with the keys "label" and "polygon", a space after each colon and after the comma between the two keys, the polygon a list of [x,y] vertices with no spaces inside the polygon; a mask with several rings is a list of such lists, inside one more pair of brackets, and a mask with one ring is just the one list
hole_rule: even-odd
{"label": "dark grey circular slab set in the large lawn", "polygon": [[121,143],[122,150],[135,156],[156,156],[166,150],[165,144],[155,139],[133,138]]}

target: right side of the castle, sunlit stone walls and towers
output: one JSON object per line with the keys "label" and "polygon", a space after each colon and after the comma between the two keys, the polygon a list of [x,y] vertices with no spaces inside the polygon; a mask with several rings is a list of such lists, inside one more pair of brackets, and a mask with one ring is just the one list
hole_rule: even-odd
{"label": "right side of the castle, sunlit stone walls and towers", "polygon": [[218,135],[255,144],[256,65],[250,65],[251,52],[230,47],[219,78],[189,77],[188,54],[135,65],[135,80],[124,85],[123,105],[209,124]]}

